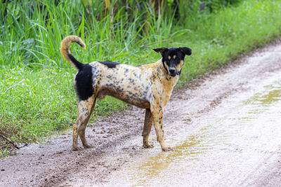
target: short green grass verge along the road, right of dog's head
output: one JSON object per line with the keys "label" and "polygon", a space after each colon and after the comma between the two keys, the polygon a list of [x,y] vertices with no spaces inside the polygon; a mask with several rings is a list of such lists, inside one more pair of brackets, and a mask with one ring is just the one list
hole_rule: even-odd
{"label": "short green grass verge along the road, right of dog's head", "polygon": [[[186,45],[194,53],[190,63],[183,67],[185,73],[180,84],[279,39],[280,8],[280,1],[244,1],[240,6],[226,8],[215,15],[202,16],[196,29],[190,28],[185,35]],[[176,39],[173,45],[183,45],[183,40],[182,37]]]}

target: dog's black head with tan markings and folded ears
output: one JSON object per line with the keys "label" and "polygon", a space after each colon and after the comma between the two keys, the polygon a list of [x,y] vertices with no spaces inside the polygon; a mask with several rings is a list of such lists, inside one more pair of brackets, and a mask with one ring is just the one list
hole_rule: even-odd
{"label": "dog's black head with tan markings and folded ears", "polygon": [[153,49],[161,53],[164,69],[170,76],[178,76],[184,64],[185,55],[191,55],[190,48],[156,48]]}

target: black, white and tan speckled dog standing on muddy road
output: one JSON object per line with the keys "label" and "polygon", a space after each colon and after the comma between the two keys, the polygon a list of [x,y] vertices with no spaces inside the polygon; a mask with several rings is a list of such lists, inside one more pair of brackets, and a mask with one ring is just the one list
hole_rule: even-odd
{"label": "black, white and tan speckled dog standing on muddy road", "polygon": [[78,70],[74,76],[74,89],[77,93],[78,117],[73,127],[72,150],[78,150],[78,134],[84,148],[91,148],[85,138],[86,125],[89,121],[96,99],[106,95],[116,97],[128,104],[145,109],[143,127],[143,147],[151,148],[148,136],[154,123],[157,141],[162,151],[172,151],[164,141],[163,113],[171,92],[178,81],[184,64],[185,55],[191,55],[190,48],[155,48],[162,58],[152,64],[133,67],[117,62],[91,62],[82,64],[70,53],[70,44],[78,43],[86,48],[78,36],[63,39],[60,52],[65,60]]}

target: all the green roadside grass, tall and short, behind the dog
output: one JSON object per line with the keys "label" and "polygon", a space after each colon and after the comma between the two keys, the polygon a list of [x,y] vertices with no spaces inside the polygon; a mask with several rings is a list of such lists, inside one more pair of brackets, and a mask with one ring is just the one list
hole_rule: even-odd
{"label": "all the green roadside grass, tall and short, behind the dog", "polygon": [[[280,0],[1,1],[1,154],[75,122],[76,70],[59,50],[65,36],[84,40],[86,50],[71,47],[84,63],[147,64],[160,58],[152,48],[192,48],[178,83],[183,86],[281,34]],[[105,97],[91,120],[126,107]]]}

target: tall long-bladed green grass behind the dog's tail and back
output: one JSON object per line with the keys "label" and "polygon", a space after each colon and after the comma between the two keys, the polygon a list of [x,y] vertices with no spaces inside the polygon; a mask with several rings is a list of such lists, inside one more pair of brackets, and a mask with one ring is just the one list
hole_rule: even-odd
{"label": "tall long-bladed green grass behind the dog's tail and back", "polygon": [[[97,7],[100,8],[100,7]],[[131,48],[142,49],[155,41],[169,38],[173,16],[155,16],[145,4],[140,13],[130,15],[121,7],[112,15],[97,16],[82,4],[67,0],[55,1],[15,1],[2,4],[6,16],[1,22],[1,64],[14,67],[25,64],[30,67],[68,67],[58,47],[67,35],[79,35],[88,44],[87,51],[73,50],[85,62],[92,60],[123,60],[130,55]],[[102,8],[100,8],[102,10]],[[147,20],[142,20],[143,16]],[[144,27],[149,27],[144,32]],[[138,53],[138,51],[135,51]],[[127,61],[128,62],[128,61]],[[131,63],[131,62],[129,62]]]}

